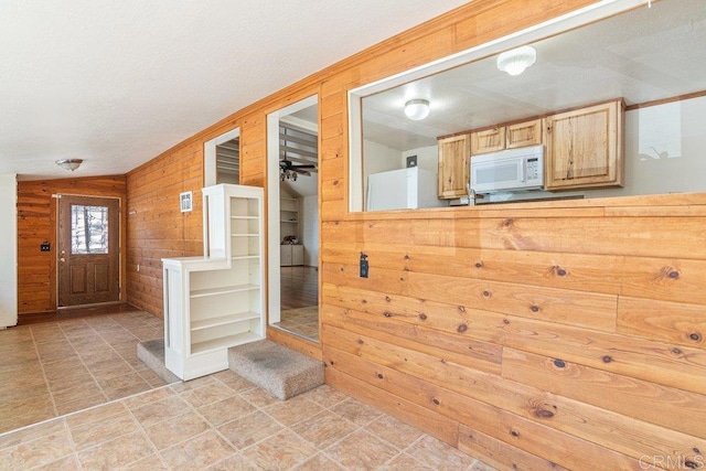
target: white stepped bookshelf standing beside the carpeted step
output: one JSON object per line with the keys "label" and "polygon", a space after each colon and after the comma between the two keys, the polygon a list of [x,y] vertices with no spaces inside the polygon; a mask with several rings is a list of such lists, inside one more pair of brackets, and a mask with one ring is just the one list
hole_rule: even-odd
{"label": "white stepped bookshelf standing beside the carpeted step", "polygon": [[203,189],[204,256],[163,259],[165,366],[188,381],[265,338],[263,189]]}

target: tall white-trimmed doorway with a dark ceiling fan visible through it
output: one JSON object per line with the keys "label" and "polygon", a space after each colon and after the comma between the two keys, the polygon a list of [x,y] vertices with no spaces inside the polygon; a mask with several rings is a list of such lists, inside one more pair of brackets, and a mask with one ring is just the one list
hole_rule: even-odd
{"label": "tall white-trimmed doorway with a dark ceiling fan visible through it", "polygon": [[267,117],[269,324],[319,342],[319,113],[312,96]]}

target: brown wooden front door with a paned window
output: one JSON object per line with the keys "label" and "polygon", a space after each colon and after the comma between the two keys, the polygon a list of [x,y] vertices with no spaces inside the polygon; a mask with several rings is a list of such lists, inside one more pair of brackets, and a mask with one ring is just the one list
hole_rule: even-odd
{"label": "brown wooden front door with a paned window", "polygon": [[58,306],[120,299],[119,200],[58,199]]}

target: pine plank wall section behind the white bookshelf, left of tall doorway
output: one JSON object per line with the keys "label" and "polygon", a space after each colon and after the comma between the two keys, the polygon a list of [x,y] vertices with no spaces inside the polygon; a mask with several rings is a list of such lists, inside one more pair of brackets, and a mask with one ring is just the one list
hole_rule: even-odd
{"label": "pine plank wall section behind the white bookshelf, left of tall doorway", "polygon": [[[128,173],[128,302],[162,318],[162,258],[203,255],[204,142],[240,128],[250,139],[242,146],[240,183],[263,186],[264,121],[226,119]],[[193,211],[182,213],[185,191],[193,192]]]}

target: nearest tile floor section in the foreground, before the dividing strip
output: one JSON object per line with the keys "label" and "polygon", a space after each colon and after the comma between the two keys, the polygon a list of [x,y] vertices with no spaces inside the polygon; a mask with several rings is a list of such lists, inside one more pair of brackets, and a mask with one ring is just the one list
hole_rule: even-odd
{"label": "nearest tile floor section in the foreground, before the dividing strip", "polygon": [[279,402],[226,371],[0,435],[0,469],[491,470],[329,387]]}

